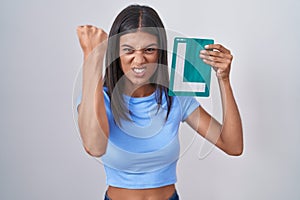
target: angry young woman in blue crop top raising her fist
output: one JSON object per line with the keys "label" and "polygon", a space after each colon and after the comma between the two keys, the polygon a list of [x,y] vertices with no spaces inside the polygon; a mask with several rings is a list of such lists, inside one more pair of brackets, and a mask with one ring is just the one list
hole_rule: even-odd
{"label": "angry young woman in blue crop top raising her fist", "polygon": [[180,122],[227,154],[242,153],[228,49],[212,44],[199,52],[216,71],[224,113],[221,125],[195,98],[168,96],[166,32],[152,8],[131,5],[122,10],[109,37],[91,25],[79,26],[77,34],[84,53],[78,124],[84,148],[104,163],[105,199],[179,199],[175,183]]}

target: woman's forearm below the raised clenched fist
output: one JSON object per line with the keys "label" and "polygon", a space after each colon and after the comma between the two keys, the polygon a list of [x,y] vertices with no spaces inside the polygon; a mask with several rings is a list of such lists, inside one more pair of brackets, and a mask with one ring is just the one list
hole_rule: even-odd
{"label": "woman's forearm below the raised clenched fist", "polygon": [[103,56],[97,52],[85,56],[82,101],[78,110],[83,145],[90,155],[97,157],[105,153],[109,135],[103,97],[102,61]]}

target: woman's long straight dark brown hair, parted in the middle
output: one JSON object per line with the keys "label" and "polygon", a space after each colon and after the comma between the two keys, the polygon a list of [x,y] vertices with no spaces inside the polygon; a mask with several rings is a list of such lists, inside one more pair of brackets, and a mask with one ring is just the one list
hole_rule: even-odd
{"label": "woman's long straight dark brown hair, parted in the middle", "polygon": [[[157,12],[148,6],[130,5],[122,10],[116,17],[109,32],[108,47],[106,53],[106,73],[104,85],[108,88],[108,95],[111,99],[111,109],[116,122],[120,118],[129,120],[130,111],[123,99],[122,87],[116,87],[121,81],[124,73],[121,69],[119,44],[120,37],[126,33],[143,31],[155,35],[158,39],[158,67],[150,78],[150,83],[158,91],[156,92],[156,102],[158,109],[162,104],[162,99],[167,101],[167,115],[171,110],[172,97],[168,96],[169,74],[167,70],[167,36],[164,25]],[[118,83],[120,85],[120,83]]]}

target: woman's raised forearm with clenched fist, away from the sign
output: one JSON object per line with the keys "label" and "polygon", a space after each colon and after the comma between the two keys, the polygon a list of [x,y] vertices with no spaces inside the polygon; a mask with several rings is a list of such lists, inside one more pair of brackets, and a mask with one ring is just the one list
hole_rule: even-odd
{"label": "woman's raised forearm with clenched fist, away from the sign", "polygon": [[109,135],[102,80],[107,34],[101,29],[87,25],[79,26],[77,35],[84,55],[78,126],[86,152],[91,156],[100,157],[106,151]]}

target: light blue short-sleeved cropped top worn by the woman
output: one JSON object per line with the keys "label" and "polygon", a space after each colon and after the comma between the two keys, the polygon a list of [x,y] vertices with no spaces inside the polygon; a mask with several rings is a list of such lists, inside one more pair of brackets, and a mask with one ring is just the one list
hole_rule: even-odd
{"label": "light blue short-sleeved cropped top worn by the woman", "polygon": [[176,183],[179,125],[199,106],[199,102],[194,97],[175,96],[165,120],[167,101],[163,98],[160,109],[157,109],[157,91],[139,98],[123,95],[131,120],[121,119],[118,126],[107,88],[103,92],[110,130],[106,153],[101,157],[107,185],[145,189]]}

